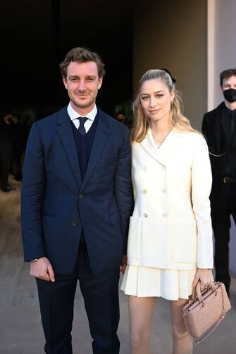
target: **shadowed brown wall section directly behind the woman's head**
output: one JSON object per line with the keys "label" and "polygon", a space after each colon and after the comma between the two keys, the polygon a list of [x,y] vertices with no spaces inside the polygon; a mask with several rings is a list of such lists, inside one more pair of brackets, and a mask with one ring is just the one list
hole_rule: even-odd
{"label": "shadowed brown wall section directly behind the woman's head", "polygon": [[135,1],[134,92],[150,68],[168,68],[185,116],[200,128],[207,109],[207,1]]}

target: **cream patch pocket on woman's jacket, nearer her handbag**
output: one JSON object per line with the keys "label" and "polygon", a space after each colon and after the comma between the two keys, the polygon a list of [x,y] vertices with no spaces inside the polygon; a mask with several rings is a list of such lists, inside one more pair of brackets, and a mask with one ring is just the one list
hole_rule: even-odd
{"label": "cream patch pocket on woman's jacket, nearer her handbag", "polygon": [[193,220],[173,220],[174,262],[197,262],[197,224]]}

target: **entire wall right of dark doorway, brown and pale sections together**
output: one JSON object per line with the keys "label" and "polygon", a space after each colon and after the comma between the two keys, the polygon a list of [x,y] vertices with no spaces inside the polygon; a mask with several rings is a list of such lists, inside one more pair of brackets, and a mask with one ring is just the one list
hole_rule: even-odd
{"label": "entire wall right of dark doorway, brown and pale sections together", "polygon": [[[235,0],[135,1],[134,92],[150,68],[168,68],[182,92],[185,116],[202,116],[222,101],[218,75],[236,66]],[[236,273],[236,228],[230,233],[230,269]]]}

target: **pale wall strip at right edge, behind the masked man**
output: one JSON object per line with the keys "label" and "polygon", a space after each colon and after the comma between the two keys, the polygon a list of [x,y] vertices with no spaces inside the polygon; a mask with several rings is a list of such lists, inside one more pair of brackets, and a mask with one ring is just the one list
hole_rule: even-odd
{"label": "pale wall strip at right edge, behind the masked man", "polygon": [[[223,101],[219,73],[236,67],[236,1],[209,0],[208,110]],[[236,273],[236,228],[231,219],[230,269]]]}

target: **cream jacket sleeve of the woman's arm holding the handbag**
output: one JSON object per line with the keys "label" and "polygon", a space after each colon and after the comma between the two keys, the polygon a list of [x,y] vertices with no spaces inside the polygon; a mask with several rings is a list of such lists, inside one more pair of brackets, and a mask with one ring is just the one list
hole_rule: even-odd
{"label": "cream jacket sleeve of the woman's arm holding the handbag", "polygon": [[197,221],[197,267],[213,268],[211,164],[206,140],[199,136],[192,161],[192,207]]}

